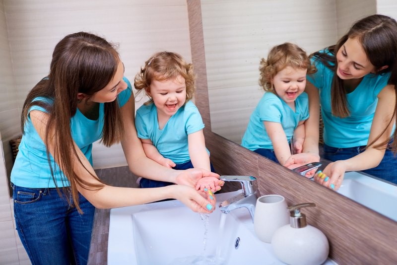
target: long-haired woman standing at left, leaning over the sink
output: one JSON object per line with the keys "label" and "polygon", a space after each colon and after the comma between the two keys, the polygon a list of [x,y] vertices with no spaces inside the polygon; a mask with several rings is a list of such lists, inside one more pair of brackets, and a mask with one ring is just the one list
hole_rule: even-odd
{"label": "long-haired woman standing at left, leaning over the sink", "polygon": [[[172,198],[194,211],[214,209],[215,200],[193,187],[203,176],[218,175],[176,171],[148,159],[133,114],[132,87],[114,45],[85,32],[57,44],[48,77],[24,103],[23,136],[11,172],[16,229],[32,264],[86,264],[94,207]],[[98,139],[106,146],[121,142],[134,174],[185,185],[104,184],[92,168],[92,143]]]}

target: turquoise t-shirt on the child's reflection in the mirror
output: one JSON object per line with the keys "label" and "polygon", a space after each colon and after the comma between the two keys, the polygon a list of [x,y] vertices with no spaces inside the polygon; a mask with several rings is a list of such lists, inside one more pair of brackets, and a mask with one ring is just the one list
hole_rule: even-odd
{"label": "turquoise t-shirt on the child's reflection in the mirror", "polygon": [[308,118],[309,101],[305,92],[296,98],[295,112],[277,95],[265,92],[250,117],[241,145],[253,151],[259,148],[273,150],[264,122],[280,123],[290,142],[299,122]]}

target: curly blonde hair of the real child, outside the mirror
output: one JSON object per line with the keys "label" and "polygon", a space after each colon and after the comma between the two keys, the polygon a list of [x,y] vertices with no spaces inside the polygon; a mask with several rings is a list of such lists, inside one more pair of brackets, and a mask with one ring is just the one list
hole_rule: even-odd
{"label": "curly blonde hair of the real child, outside the mirror", "polygon": [[[164,81],[175,79],[181,75],[185,78],[186,85],[186,102],[191,100],[196,90],[196,74],[193,71],[193,65],[185,62],[183,57],[173,52],[157,52],[153,54],[146,62],[145,66],[135,75],[134,87],[137,93],[145,91],[148,95],[150,84],[153,80]],[[145,105],[153,103],[150,98]]]}

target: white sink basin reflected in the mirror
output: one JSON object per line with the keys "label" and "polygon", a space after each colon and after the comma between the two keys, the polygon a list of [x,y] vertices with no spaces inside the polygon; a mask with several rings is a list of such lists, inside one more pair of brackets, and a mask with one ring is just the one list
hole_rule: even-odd
{"label": "white sink basin reflected in the mirror", "polygon": [[359,172],[344,174],[338,193],[397,221],[397,186]]}

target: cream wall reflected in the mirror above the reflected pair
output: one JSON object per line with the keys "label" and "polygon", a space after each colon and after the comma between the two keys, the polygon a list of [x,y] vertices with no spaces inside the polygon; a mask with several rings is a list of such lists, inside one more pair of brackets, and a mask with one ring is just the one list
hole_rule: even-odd
{"label": "cream wall reflected in the mirror above the reflected pair", "polygon": [[241,143],[264,94],[259,63],[271,47],[292,42],[310,54],[377,10],[376,0],[201,0],[211,131]]}

